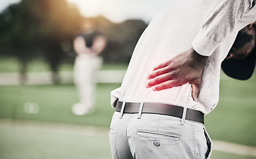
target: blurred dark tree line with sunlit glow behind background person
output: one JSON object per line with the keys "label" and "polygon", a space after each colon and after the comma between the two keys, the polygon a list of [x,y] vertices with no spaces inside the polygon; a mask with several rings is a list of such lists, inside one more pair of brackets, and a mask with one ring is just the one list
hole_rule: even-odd
{"label": "blurred dark tree line with sunlit glow behind background person", "polygon": [[[0,14],[0,56],[14,56],[20,63],[21,82],[26,81],[29,62],[43,58],[53,81],[59,83],[59,66],[73,64],[72,40],[80,32],[82,17],[65,0],[22,0]],[[112,23],[99,17],[86,18],[102,32],[107,45],[101,56],[106,63],[128,63],[147,24],[140,20]]]}

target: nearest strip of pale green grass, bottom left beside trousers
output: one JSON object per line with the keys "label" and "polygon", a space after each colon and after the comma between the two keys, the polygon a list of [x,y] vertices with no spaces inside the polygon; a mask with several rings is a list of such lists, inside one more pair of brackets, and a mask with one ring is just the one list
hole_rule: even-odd
{"label": "nearest strip of pale green grass, bottom left beside trousers", "polygon": [[0,127],[1,159],[110,159],[108,134],[63,132]]}

